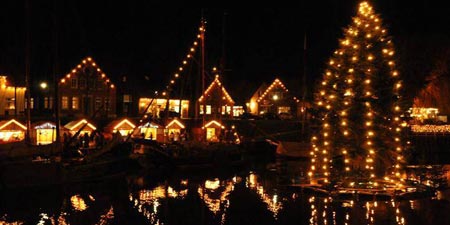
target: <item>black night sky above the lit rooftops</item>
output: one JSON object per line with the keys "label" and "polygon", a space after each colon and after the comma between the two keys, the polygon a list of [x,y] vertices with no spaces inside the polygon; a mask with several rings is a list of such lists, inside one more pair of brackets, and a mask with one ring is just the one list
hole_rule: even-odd
{"label": "black night sky above the lit rooftops", "polygon": [[[91,56],[115,83],[127,76],[127,82],[136,87],[161,90],[194,41],[203,14],[207,20],[207,68],[219,66],[225,47],[227,70],[223,81],[232,97],[239,92],[238,100],[248,98],[263,81],[272,82],[276,77],[294,93],[300,92],[305,33],[311,89],[359,3],[324,0],[289,8],[202,10],[162,7],[149,2],[30,1],[29,59],[33,85],[51,81],[54,67],[61,77]],[[374,4],[375,12],[381,15],[394,38],[404,68],[402,73],[408,73],[408,77],[426,76],[429,69],[421,68],[429,68],[438,57],[434,49],[450,46],[450,10],[440,4],[388,0]],[[2,2],[0,10],[0,74],[23,83],[25,0]]]}

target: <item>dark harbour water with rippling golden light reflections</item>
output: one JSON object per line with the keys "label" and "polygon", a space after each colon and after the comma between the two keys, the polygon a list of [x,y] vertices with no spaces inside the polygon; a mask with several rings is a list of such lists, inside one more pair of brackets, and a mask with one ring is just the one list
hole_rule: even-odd
{"label": "dark harbour water with rippling golden light reflections", "polygon": [[304,162],[278,161],[3,191],[0,224],[450,224],[449,191],[413,201],[342,201],[288,188],[305,171]]}

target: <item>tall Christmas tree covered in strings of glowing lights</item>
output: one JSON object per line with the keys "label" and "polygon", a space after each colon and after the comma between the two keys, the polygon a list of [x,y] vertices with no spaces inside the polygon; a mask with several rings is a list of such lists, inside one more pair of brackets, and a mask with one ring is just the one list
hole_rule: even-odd
{"label": "tall Christmas tree covered in strings of glowing lights", "polygon": [[394,55],[381,19],[360,3],[315,93],[321,127],[312,138],[312,181],[400,179],[402,83]]}

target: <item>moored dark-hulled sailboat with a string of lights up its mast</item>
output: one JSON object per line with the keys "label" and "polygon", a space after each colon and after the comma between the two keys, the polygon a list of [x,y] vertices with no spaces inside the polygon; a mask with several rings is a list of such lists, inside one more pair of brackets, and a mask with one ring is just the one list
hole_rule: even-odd
{"label": "moored dark-hulled sailboat with a string of lights up its mast", "polygon": [[[210,91],[218,90],[219,93],[223,95],[223,98],[230,102],[233,101],[225,91],[218,76],[215,76],[215,79],[213,79],[213,82],[208,88],[205,86],[205,20],[203,18],[201,20],[197,38],[198,41],[194,42],[194,46],[191,48],[187,59],[183,61],[183,64],[186,64],[187,60],[192,58],[191,53],[195,51],[195,47],[201,48],[201,59],[199,60],[199,72],[201,73],[201,80],[199,81],[201,82],[199,83],[201,83],[202,95],[198,100],[196,99],[194,101],[196,103],[195,119],[191,121],[190,124],[191,126],[196,124],[197,127],[192,128],[189,140],[180,141],[178,138],[173,138],[172,133],[167,133],[169,140],[164,143],[158,143],[156,141],[138,141],[141,147],[144,146],[145,150],[143,152],[146,156],[143,157],[148,158],[147,161],[149,161],[150,164],[156,163],[170,166],[175,169],[204,169],[236,165],[244,162],[241,146],[238,144],[239,138],[231,137],[235,136],[236,131],[234,129],[225,130],[225,126],[221,124],[220,119],[222,115],[220,110],[223,110],[222,106],[209,106],[211,108],[217,108],[217,112],[219,113],[216,117],[211,118],[210,121],[206,120],[206,99],[208,98],[208,93]],[[182,70],[183,68],[180,67],[180,71]],[[216,70],[213,70],[213,72],[217,73]],[[171,80],[171,83],[168,85],[168,89],[172,88],[172,84],[175,83],[174,81],[178,79],[178,77],[179,74],[176,73],[174,79]],[[222,96],[220,99],[222,99]],[[168,101],[169,99],[167,98],[166,108],[168,108]],[[164,121],[167,123],[167,129],[169,127],[167,118]]]}

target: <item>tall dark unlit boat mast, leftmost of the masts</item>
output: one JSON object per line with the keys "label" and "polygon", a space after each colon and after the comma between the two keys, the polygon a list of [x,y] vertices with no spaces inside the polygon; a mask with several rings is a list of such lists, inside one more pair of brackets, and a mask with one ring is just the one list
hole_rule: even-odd
{"label": "tall dark unlit boat mast, leftmost of the masts", "polygon": [[25,0],[25,86],[26,86],[26,127],[27,127],[27,131],[25,133],[25,141],[27,143],[31,143],[31,138],[30,138],[30,129],[31,129],[31,112],[30,112],[30,108],[31,108],[31,94],[30,94],[30,1],[29,0]]}

